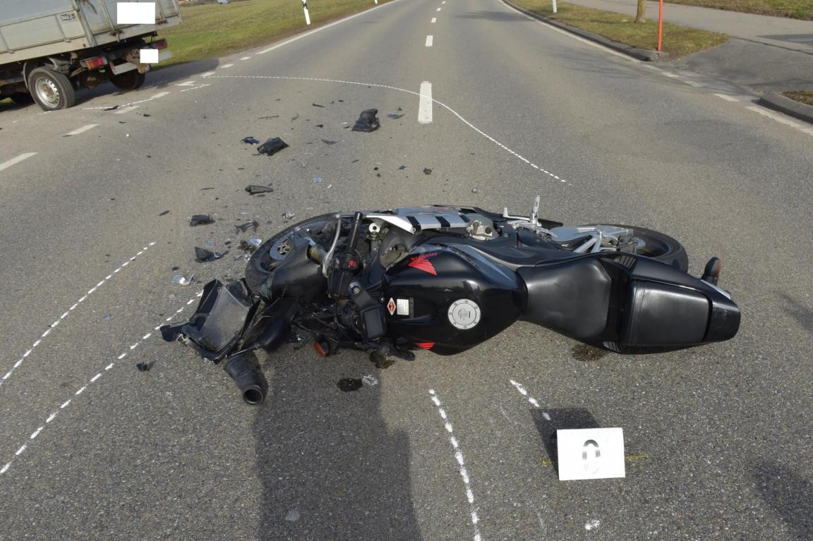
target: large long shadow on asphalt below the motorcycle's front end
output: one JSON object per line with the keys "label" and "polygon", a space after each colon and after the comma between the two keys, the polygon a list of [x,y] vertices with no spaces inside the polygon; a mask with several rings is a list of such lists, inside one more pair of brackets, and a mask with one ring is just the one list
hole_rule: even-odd
{"label": "large long shadow on asphalt below the motorcycle's front end", "polygon": [[254,425],[263,483],[258,539],[420,539],[409,441],[387,428],[380,384],[337,387],[348,375],[378,379],[378,370],[351,352],[272,364],[270,396]]}

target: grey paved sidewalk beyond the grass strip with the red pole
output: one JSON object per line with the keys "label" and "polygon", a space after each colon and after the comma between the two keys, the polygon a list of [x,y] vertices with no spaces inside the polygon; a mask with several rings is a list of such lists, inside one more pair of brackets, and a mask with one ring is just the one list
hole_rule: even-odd
{"label": "grey paved sidewalk beyond the grass strip with the red pole", "polygon": [[[631,16],[636,12],[635,0],[567,2]],[[646,2],[646,15],[657,19],[658,2]],[[678,67],[756,92],[813,89],[813,21],[669,3],[663,5],[663,19],[732,36],[720,47],[674,61]]]}

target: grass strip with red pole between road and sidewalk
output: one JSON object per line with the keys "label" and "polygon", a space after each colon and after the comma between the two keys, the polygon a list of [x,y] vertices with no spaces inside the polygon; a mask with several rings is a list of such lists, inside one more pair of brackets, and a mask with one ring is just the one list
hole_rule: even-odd
{"label": "grass strip with red pole between road and sidewalk", "polygon": [[[576,6],[557,2],[559,12],[551,9],[550,0],[512,0],[517,5],[560,23],[575,26],[593,32],[609,40],[637,47],[654,50],[658,47],[658,21],[648,19],[646,23],[636,23],[632,15],[623,15],[613,11],[595,10],[590,7]],[[711,49],[728,41],[726,34],[706,32],[696,28],[663,23],[663,52],[670,58],[686,56],[701,50]]]}

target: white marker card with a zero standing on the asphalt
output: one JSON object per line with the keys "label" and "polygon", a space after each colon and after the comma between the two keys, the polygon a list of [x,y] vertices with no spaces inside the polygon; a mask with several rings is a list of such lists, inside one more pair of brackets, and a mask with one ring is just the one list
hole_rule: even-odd
{"label": "white marker card with a zero standing on the asphalt", "polygon": [[556,431],[559,481],[625,477],[624,429]]}

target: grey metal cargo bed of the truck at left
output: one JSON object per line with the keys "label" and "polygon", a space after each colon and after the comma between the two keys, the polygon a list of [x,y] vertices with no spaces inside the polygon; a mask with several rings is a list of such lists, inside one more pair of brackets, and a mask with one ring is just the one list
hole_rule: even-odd
{"label": "grey metal cargo bed of the truck at left", "polygon": [[117,3],[118,0],[2,0],[0,70],[2,64],[115,44],[180,24],[177,0],[155,0],[155,24],[117,24]]}

